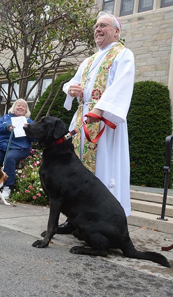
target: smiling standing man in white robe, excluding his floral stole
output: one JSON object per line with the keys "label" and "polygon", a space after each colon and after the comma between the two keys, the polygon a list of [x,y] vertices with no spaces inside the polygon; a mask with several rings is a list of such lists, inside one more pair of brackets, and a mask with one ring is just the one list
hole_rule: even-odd
{"label": "smiling standing man in white robe, excluding his floral stole", "polygon": [[[63,86],[67,94],[64,107],[71,109],[72,101],[84,91],[83,115],[88,113],[89,100],[95,78],[105,55],[118,43],[121,24],[111,14],[101,12],[94,31],[94,40],[99,48],[96,57],[89,69],[85,89],[81,87],[81,78],[88,58],[80,65],[76,75]],[[122,49],[113,60],[106,83],[106,89],[94,108],[90,111],[104,116],[117,125],[116,130],[106,125],[104,133],[97,143],[95,176],[113,193],[123,206],[126,216],[131,213],[130,207],[130,157],[127,129],[127,113],[134,84],[134,57],[130,49]],[[69,130],[75,128],[77,112],[75,113]],[[97,122],[93,117],[87,117],[87,123]],[[100,122],[100,129],[103,127]],[[81,159],[84,147],[84,129],[81,131]],[[67,226],[66,226],[67,223]],[[68,222],[62,227],[68,227]],[[61,228],[61,225],[59,225]],[[65,228],[64,228],[65,229]],[[63,231],[59,233],[64,233]]]}

